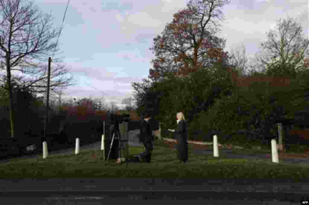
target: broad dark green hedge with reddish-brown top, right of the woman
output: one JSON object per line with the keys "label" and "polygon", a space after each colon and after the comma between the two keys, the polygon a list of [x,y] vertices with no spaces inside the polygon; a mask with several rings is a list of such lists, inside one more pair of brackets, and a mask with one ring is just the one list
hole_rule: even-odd
{"label": "broad dark green hedge with reddish-brown top, right of the woman", "polygon": [[254,73],[240,79],[230,96],[216,99],[204,115],[200,113],[200,122],[195,123],[201,129],[221,131],[230,137],[239,129],[253,130],[256,135],[252,140],[269,144],[268,137],[274,137],[277,133],[274,127],[276,120],[293,117],[295,111],[307,105],[304,100],[306,89],[306,78],[300,81]]}

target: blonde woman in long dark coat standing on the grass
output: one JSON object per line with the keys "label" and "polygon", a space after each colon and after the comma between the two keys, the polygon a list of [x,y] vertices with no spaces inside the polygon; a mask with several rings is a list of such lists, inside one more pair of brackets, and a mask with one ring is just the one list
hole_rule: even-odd
{"label": "blonde woman in long dark coat standing on the grass", "polygon": [[168,129],[168,131],[176,132],[177,139],[177,158],[180,163],[188,163],[188,134],[187,123],[182,112],[178,112],[176,115],[178,128],[177,130]]}

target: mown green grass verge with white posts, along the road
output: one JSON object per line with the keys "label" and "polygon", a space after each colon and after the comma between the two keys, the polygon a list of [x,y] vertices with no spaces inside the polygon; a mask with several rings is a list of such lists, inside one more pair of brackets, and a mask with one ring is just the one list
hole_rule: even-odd
{"label": "mown green grass verge with white posts, along the road", "polygon": [[[0,164],[0,175],[6,178],[259,178],[309,179],[309,167],[275,164],[265,160],[227,159],[220,153],[196,154],[189,145],[189,163],[178,163],[175,149],[162,141],[155,141],[152,163],[116,164],[110,160],[106,165],[100,150],[82,150],[75,154],[53,154],[47,159],[12,159]],[[144,151],[143,147],[130,147],[130,155]],[[235,153],[244,150],[235,150]],[[254,151],[254,153],[265,153]],[[94,154],[96,157],[94,158]]]}

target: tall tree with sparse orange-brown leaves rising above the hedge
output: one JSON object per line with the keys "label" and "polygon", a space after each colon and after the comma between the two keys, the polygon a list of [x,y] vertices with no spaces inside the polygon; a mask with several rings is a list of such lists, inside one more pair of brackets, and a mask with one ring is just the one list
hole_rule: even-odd
{"label": "tall tree with sparse orange-brown leaves rising above the hedge", "polygon": [[164,79],[167,72],[187,76],[201,67],[213,63],[227,64],[228,55],[223,51],[226,40],[215,37],[222,20],[220,10],[228,0],[191,0],[187,8],[173,15],[173,21],[165,26],[162,36],[154,38],[156,58],[149,71],[152,80]]}

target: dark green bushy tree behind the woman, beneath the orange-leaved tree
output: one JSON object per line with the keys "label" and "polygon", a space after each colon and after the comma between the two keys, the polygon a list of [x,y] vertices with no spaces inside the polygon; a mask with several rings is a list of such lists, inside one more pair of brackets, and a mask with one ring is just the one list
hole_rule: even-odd
{"label": "dark green bushy tree behind the woman, beneath the orange-leaved tree", "polygon": [[182,111],[188,122],[192,123],[197,120],[198,113],[207,111],[213,105],[216,98],[230,95],[234,86],[230,73],[222,68],[215,70],[210,74],[205,69],[199,69],[190,78],[178,78],[169,73],[167,79],[153,82],[150,90],[154,95],[149,95],[149,98],[155,102],[152,107],[159,110],[160,122],[166,126],[175,126],[175,115]]}

